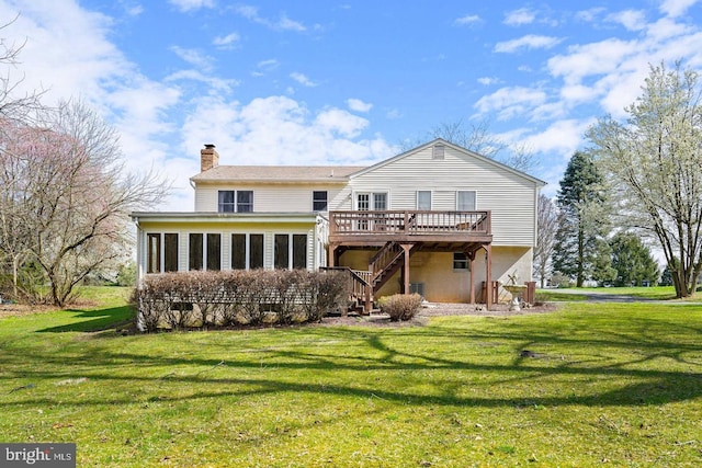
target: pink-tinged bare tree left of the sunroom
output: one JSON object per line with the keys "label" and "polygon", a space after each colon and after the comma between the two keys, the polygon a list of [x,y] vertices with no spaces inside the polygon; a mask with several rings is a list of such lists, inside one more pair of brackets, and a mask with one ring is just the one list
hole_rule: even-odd
{"label": "pink-tinged bare tree left of the sunroom", "polygon": [[[169,187],[152,171],[126,172],[116,133],[84,104],[64,103],[44,121],[0,136],[3,176],[13,181],[1,199],[13,205],[7,213],[22,216],[8,226],[27,233],[14,239],[13,252],[38,266],[47,300],[64,306],[87,275],[124,259],[128,213],[152,206]],[[43,299],[41,288],[34,297]]]}

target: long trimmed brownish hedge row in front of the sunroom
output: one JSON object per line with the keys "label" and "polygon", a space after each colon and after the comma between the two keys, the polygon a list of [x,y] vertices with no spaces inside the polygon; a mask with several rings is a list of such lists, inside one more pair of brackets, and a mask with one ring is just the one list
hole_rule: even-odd
{"label": "long trimmed brownish hedge row in front of the sunroom", "polygon": [[134,293],[137,328],[213,328],[320,321],[348,306],[343,272],[303,270],[149,275]]}

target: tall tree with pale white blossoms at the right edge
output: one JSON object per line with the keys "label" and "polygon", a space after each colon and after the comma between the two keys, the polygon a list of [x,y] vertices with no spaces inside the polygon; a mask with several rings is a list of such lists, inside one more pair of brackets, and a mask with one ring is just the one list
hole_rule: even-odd
{"label": "tall tree with pale white blossoms at the right edge", "polygon": [[701,98],[697,71],[650,67],[627,123],[608,116],[588,132],[619,212],[658,240],[678,297],[694,293],[702,269]]}

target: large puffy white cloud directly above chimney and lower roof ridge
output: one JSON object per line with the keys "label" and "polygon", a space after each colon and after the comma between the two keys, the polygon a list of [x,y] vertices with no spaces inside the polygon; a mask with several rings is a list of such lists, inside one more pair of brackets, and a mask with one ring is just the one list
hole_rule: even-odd
{"label": "large puffy white cloud directly above chimney and lower roof ridge", "polygon": [[[367,121],[330,107],[314,115],[286,96],[242,105],[212,96],[182,129],[183,151],[197,158],[214,142],[222,164],[367,164],[397,152],[382,137],[355,140]],[[192,173],[191,173],[192,175]]]}

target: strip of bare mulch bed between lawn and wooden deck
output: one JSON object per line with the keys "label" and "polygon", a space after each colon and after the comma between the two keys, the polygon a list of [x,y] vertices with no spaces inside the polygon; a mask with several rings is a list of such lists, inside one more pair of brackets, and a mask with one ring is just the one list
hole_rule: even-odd
{"label": "strip of bare mulch bed between lawn and wooden deck", "polygon": [[543,303],[535,306],[523,307],[519,311],[509,310],[507,304],[492,305],[487,310],[484,305],[475,304],[445,304],[429,303],[422,306],[417,317],[406,322],[392,322],[386,315],[372,313],[371,316],[325,317],[321,326],[366,326],[366,327],[412,327],[427,323],[429,317],[442,316],[482,316],[482,317],[508,317],[525,316],[532,313],[550,313],[558,310],[559,304]]}

